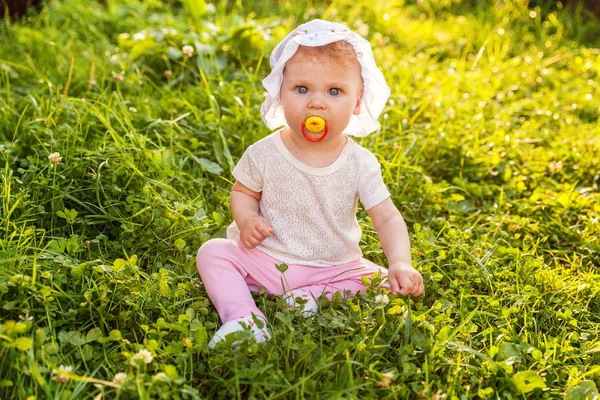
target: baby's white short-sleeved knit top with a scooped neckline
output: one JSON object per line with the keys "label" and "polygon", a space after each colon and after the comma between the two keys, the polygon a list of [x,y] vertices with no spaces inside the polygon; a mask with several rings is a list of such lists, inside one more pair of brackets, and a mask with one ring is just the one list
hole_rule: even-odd
{"label": "baby's white short-sleeved knit top with a scooped neckline", "polygon": [[[311,167],[294,157],[280,133],[251,145],[233,170],[241,184],[262,192],[259,213],[275,231],[257,249],[288,264],[326,267],[360,259],[357,201],[368,210],[390,196],[379,162],[348,138],[331,165]],[[227,238],[239,234],[234,221]]]}

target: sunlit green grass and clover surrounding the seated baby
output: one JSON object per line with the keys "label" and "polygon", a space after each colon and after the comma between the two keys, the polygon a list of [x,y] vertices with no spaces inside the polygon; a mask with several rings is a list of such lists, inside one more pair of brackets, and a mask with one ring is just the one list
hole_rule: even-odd
{"label": "sunlit green grass and clover surrounding the seated baby", "polygon": [[[0,25],[0,398],[597,396],[598,20],[514,1],[106,3]],[[196,250],[268,134],[269,52],[317,16],[366,35],[392,88],[362,143],[426,294],[382,305],[375,281],[308,320],[257,294],[273,339],[208,350]]]}

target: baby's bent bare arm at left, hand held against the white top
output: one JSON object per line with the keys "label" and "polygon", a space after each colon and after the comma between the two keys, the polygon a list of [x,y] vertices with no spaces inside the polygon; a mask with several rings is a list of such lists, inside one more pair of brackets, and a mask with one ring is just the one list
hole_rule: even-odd
{"label": "baby's bent bare arm at left, hand held against the white top", "polygon": [[231,189],[231,213],[240,230],[240,241],[253,249],[273,234],[273,227],[258,214],[258,202],[261,192],[255,192],[235,182]]}

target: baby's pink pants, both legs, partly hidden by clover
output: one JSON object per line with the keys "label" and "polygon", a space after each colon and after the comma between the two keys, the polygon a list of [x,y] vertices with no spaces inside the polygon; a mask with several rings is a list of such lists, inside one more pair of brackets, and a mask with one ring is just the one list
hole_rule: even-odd
{"label": "baby's pink pants, both legs, partly hidden by clover", "polygon": [[[322,294],[331,299],[334,292],[351,293],[365,290],[362,276],[387,270],[361,258],[355,262],[331,267],[289,264],[284,274],[275,267],[280,261],[257,249],[247,249],[239,240],[212,239],[198,250],[198,272],[223,323],[254,313],[265,318],[256,307],[250,291],[264,286],[268,293],[281,296],[293,289]],[[284,290],[285,285],[285,290]],[[387,282],[383,285],[389,289]],[[345,296],[344,296],[345,297]],[[266,318],[265,318],[266,320]]]}

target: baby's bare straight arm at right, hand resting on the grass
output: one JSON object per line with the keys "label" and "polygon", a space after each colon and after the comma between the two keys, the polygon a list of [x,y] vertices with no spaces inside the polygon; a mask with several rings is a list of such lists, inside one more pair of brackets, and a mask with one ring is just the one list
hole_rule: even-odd
{"label": "baby's bare straight arm at right, hand resting on the grass", "polygon": [[412,266],[406,224],[390,198],[367,210],[388,259],[392,294],[413,297],[423,294],[423,277]]}

